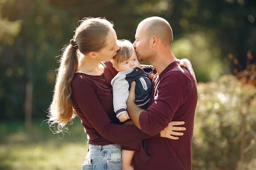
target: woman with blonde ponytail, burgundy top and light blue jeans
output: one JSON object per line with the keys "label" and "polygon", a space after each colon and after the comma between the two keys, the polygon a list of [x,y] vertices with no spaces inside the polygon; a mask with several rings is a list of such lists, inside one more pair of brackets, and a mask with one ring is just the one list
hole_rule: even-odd
{"label": "woman with blonde ponytail, burgundy top and light blue jeans", "polygon": [[[141,140],[151,136],[134,125],[121,124],[113,110],[110,82],[117,71],[109,60],[119,50],[113,24],[104,18],[85,18],[64,50],[48,123],[57,127],[55,133],[65,132],[65,124],[76,113],[88,135],[88,154],[82,169],[120,170],[121,146],[143,150]],[[171,133],[184,130],[174,126],[182,124],[171,122],[161,136],[178,139]]]}

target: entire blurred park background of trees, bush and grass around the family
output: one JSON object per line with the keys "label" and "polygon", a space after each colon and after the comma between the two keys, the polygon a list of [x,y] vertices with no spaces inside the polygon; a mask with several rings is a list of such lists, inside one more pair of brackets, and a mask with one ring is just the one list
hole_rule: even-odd
{"label": "entire blurred park background of trees, bush and grass around the family", "polygon": [[256,0],[0,0],[1,170],[81,169],[79,118],[65,135],[43,120],[61,49],[88,16],[131,42],[144,18],[168,20],[198,80],[193,170],[256,169]]}

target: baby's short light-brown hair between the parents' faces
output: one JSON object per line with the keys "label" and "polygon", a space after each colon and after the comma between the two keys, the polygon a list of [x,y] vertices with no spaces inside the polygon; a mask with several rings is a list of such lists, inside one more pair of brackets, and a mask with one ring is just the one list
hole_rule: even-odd
{"label": "baby's short light-brown hair between the parents' faces", "polygon": [[132,50],[134,50],[134,47],[129,40],[117,40],[117,45],[120,49],[112,59],[114,65],[128,60],[132,56]]}

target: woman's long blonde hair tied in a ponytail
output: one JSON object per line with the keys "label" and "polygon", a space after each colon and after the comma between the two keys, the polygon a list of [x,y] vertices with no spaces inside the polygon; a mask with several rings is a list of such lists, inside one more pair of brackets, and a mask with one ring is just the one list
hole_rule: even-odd
{"label": "woman's long blonde hair tied in a ponytail", "polygon": [[49,106],[47,123],[54,133],[66,132],[65,126],[75,117],[71,82],[78,67],[79,53],[99,51],[106,46],[106,36],[113,24],[105,18],[84,18],[76,28],[70,44],[65,46],[60,66],[56,70],[56,84],[52,103]]}

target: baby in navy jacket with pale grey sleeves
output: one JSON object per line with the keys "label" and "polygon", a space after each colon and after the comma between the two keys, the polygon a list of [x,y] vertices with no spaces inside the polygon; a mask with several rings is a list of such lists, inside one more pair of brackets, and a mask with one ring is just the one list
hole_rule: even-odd
{"label": "baby in navy jacket with pale grey sleeves", "polygon": [[[128,40],[117,40],[120,49],[113,57],[112,63],[117,71],[117,75],[112,79],[113,106],[119,121],[124,122],[130,119],[126,110],[126,101],[129,95],[130,84],[136,82],[135,103],[141,108],[147,108],[152,91],[153,69],[148,67],[140,68],[135,49]],[[150,77],[150,78],[149,78]],[[122,150],[121,170],[133,170],[131,165],[135,151]]]}

